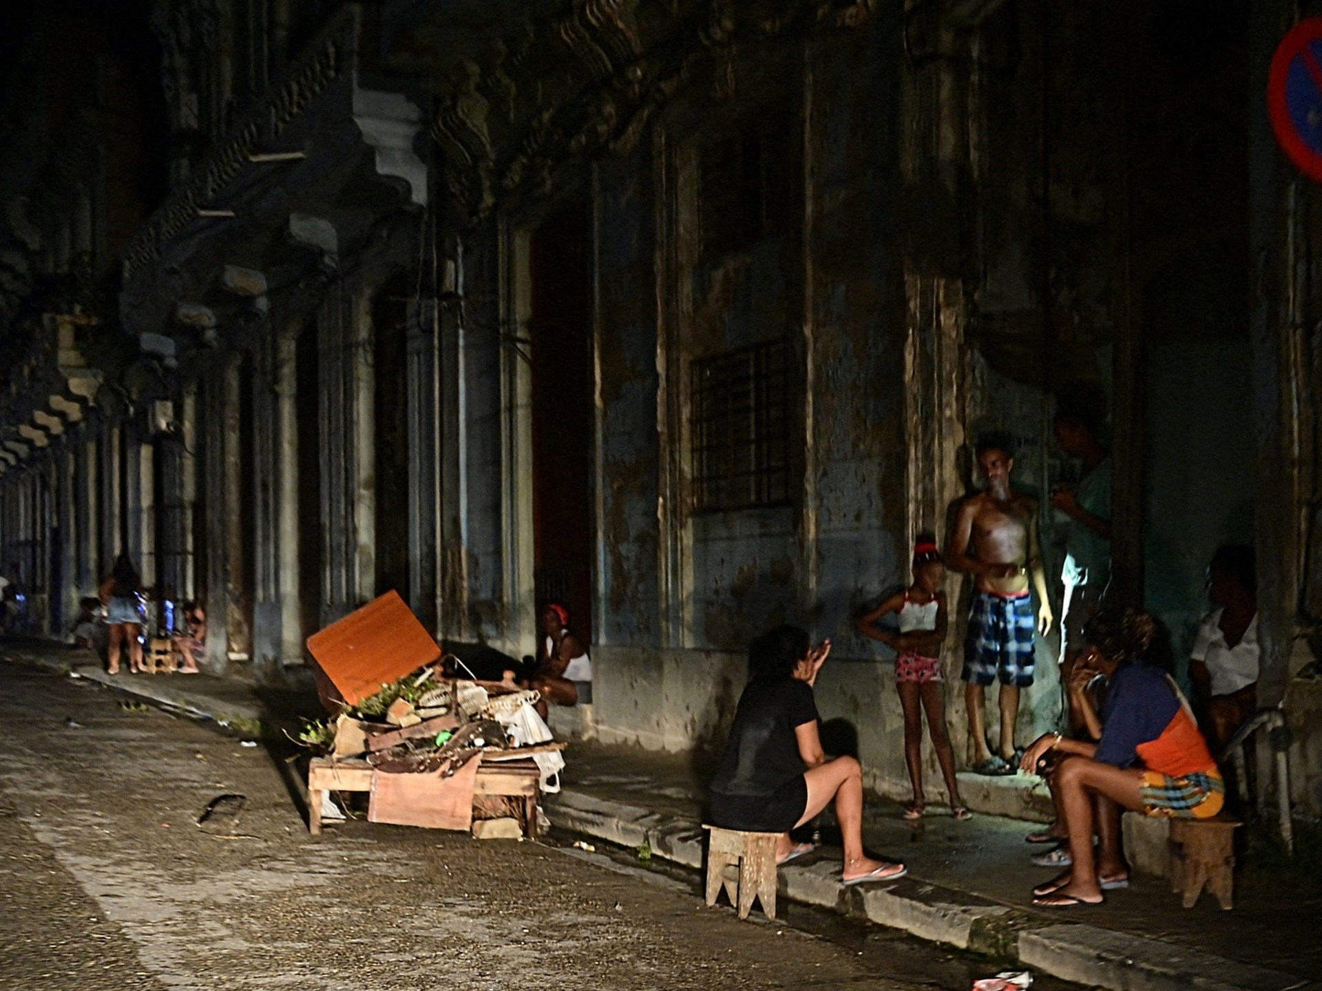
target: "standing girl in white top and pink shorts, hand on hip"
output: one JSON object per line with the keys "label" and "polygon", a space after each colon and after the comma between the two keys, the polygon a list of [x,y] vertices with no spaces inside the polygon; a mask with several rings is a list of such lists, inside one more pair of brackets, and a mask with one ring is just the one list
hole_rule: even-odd
{"label": "standing girl in white top and pink shorts, hand on hip", "polygon": [[[904,807],[906,819],[920,819],[923,802],[923,711],[932,737],[936,758],[941,765],[945,788],[951,793],[951,814],[969,819],[972,813],[960,802],[954,778],[954,753],[945,732],[945,698],[941,688],[941,643],[945,640],[945,563],[936,542],[919,538],[914,546],[914,584],[896,592],[858,621],[858,630],[895,650],[895,686],[904,710],[904,760],[914,801]],[[895,613],[899,632],[882,629],[876,621]]]}

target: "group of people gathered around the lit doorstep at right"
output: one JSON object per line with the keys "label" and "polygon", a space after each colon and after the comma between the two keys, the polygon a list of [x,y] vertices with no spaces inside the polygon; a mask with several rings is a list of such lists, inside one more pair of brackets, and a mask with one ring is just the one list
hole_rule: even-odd
{"label": "group of people gathered around the lit doorstep at right", "polygon": [[[1224,782],[1215,756],[1256,710],[1257,605],[1252,548],[1225,546],[1208,568],[1214,610],[1200,625],[1190,674],[1194,704],[1157,662],[1157,624],[1146,613],[1108,605],[1110,464],[1091,422],[1073,411],[1055,420],[1062,449],[1079,459],[1073,488],[1052,494],[1068,517],[1060,675],[1066,715],[1060,731],[1027,747],[1014,741],[1019,691],[1032,684],[1035,640],[1055,616],[1047,595],[1038,535],[1038,505],[1010,485],[1011,445],[978,444],[981,492],[957,510],[951,567],[973,576],[961,679],[969,716],[970,765],[984,774],[1025,772],[1048,782],[1055,822],[1029,836],[1051,843],[1034,863],[1063,868],[1032,891],[1034,904],[1096,904],[1104,891],[1129,883],[1120,844],[1124,810],[1155,817],[1204,818],[1220,811]],[[906,819],[925,814],[921,737],[928,733],[949,793],[951,814],[968,819],[945,725],[941,645],[949,610],[945,559],[931,536],[914,547],[914,579],[858,620],[861,633],[895,651],[895,680],[904,714],[904,754],[914,789]],[[1034,610],[1032,592],[1038,606]],[[878,625],[894,616],[895,629]],[[828,758],[821,748],[813,684],[830,641],[812,646],[796,626],[780,626],[750,649],[750,682],[711,782],[709,814],[717,826],[779,832],[777,862],[812,847],[792,831],[830,801],[843,839],[846,884],[890,880],[898,863],[863,852],[862,770],[853,756]],[[999,680],[999,733],[986,739],[985,687]],[[1096,847],[1095,847],[1096,840]]]}

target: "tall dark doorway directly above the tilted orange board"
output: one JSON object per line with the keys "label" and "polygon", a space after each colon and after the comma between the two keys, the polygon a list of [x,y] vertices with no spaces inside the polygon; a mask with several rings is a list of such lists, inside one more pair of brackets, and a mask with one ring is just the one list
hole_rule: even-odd
{"label": "tall dark doorway directly above the tilted orange board", "polygon": [[408,279],[393,279],[371,301],[377,422],[377,595],[408,593]]}

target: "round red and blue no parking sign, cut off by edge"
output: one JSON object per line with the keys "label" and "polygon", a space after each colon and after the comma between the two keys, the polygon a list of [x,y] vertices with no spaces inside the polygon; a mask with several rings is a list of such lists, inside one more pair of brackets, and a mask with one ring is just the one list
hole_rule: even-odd
{"label": "round red and blue no parking sign, cut off by edge", "polygon": [[1322,17],[1300,21],[1281,40],[1266,81],[1266,106],[1290,161],[1322,182]]}

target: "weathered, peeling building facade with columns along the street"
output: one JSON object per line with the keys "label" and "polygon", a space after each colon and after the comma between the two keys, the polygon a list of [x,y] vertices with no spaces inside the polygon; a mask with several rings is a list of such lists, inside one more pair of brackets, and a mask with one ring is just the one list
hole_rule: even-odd
{"label": "weathered, peeling building facade with columns along the street", "polygon": [[112,301],[41,309],[11,374],[0,560],[58,632],[126,548],[206,603],[213,671],[264,677],[387,588],[510,653],[561,599],[603,737],[668,749],[802,622],[822,715],[899,791],[853,620],[944,534],[976,435],[1044,497],[1077,470],[1055,404],[1091,398],[1113,593],[1177,657],[1211,551],[1256,540],[1318,815],[1317,194],[1260,99],[1293,8],[1149,7],[163,0],[169,188],[103,255]]}

